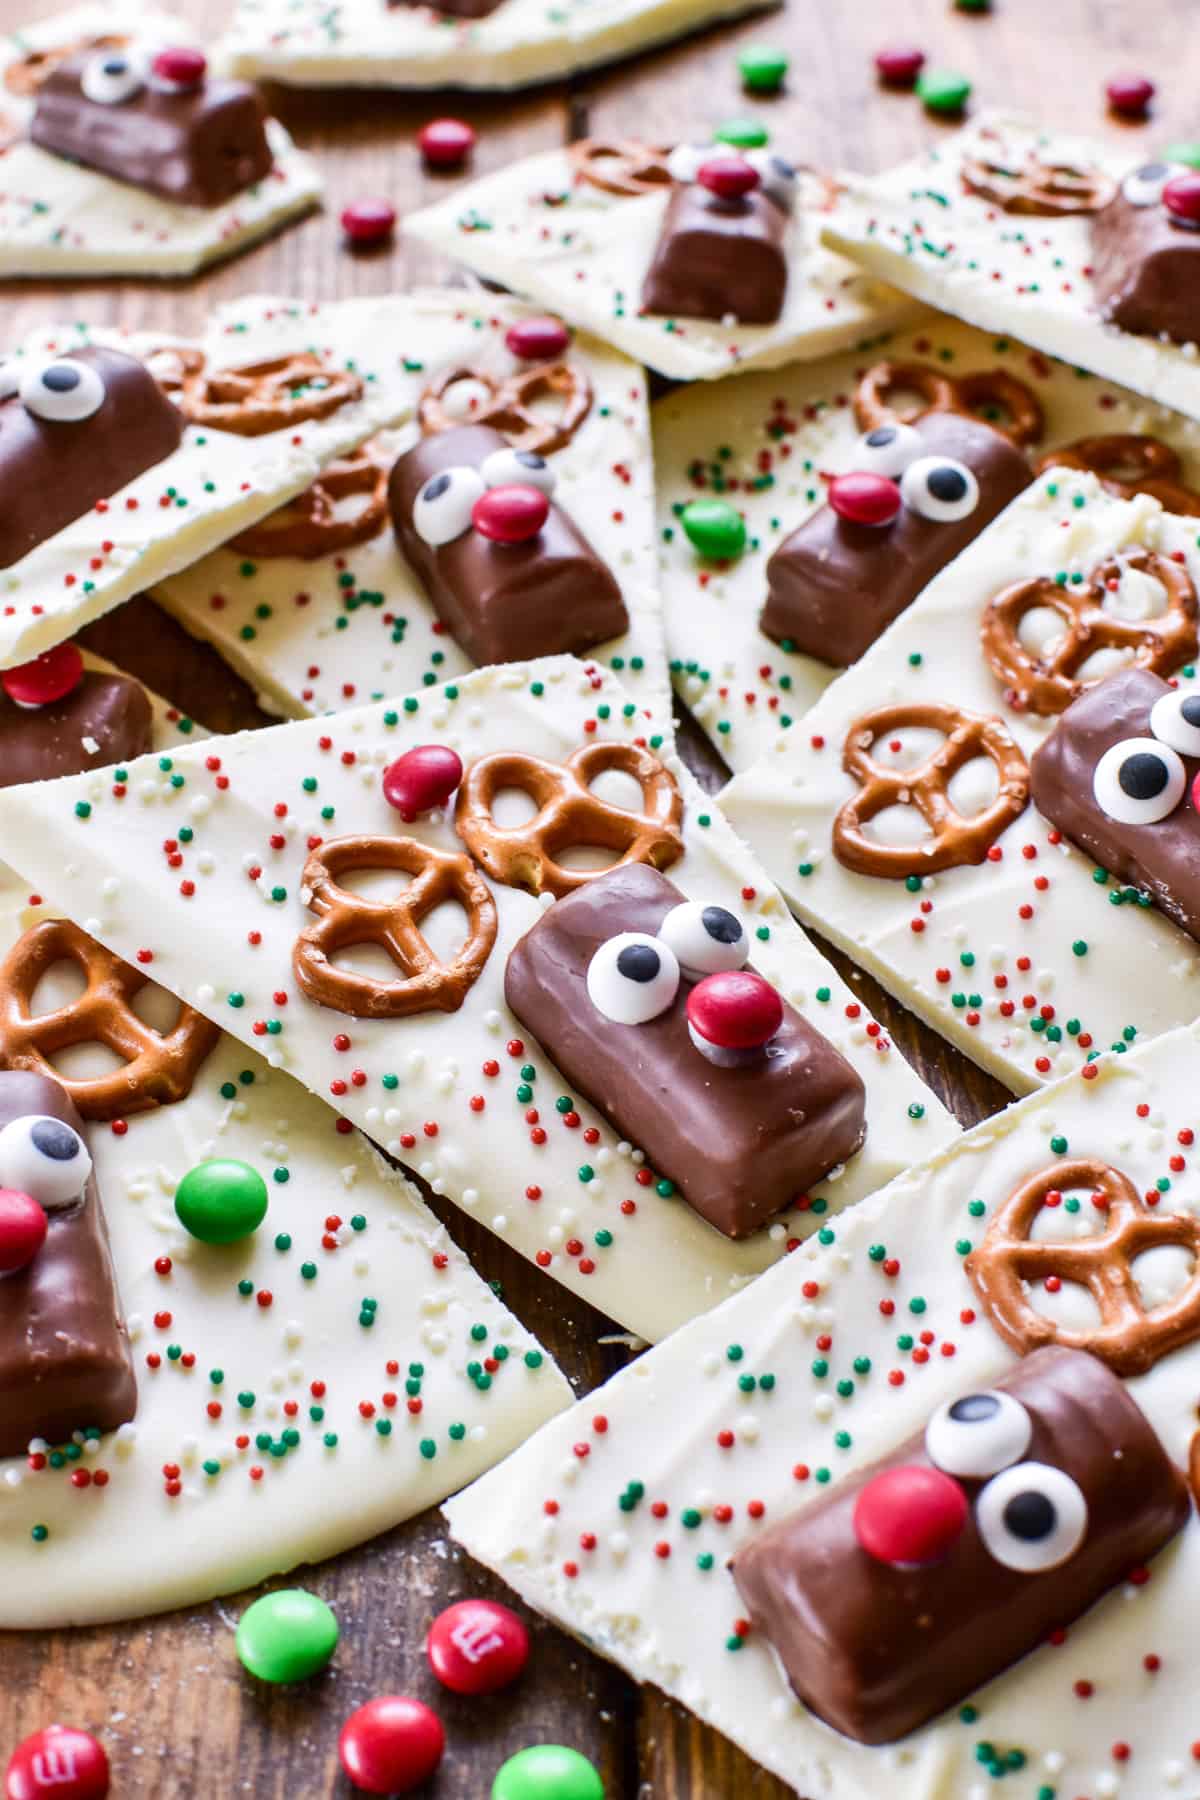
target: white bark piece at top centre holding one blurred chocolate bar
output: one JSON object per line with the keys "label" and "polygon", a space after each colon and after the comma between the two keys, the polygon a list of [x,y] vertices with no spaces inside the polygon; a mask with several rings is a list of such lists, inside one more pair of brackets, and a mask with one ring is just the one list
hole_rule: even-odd
{"label": "white bark piece at top centre holding one blurred chocolate bar", "polygon": [[[779,146],[781,149],[784,146]],[[905,319],[912,306],[824,250],[826,184],[801,173],[783,317],[772,326],[640,315],[667,191],[610,194],[578,182],[565,149],[524,157],[405,220],[405,230],[626,356],[680,380],[828,356]]]}

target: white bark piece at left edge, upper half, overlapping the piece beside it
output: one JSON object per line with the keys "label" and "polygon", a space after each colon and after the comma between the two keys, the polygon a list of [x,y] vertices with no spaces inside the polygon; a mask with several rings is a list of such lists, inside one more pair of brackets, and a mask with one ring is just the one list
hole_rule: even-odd
{"label": "white bark piece at left edge, upper half, overlapping the piece beside it", "polygon": [[[187,427],[169,457],[0,569],[0,666],[27,662],[205,556],[308,488],[326,463],[412,416],[421,378],[403,365],[407,328],[405,299],[315,304],[259,295],[219,308],[200,340],[209,369],[317,351],[327,369],[363,378],[362,398],[257,437]],[[29,338],[14,360],[20,369],[88,342],[148,356],[182,340],[58,326]],[[86,428],[86,419],[70,427]]]}

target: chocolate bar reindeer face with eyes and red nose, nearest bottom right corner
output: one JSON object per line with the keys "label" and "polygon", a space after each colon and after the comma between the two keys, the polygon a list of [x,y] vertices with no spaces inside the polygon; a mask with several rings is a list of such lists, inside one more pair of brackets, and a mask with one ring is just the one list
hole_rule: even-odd
{"label": "chocolate bar reindeer face with eyes and red nose, nearest bottom right corner", "polygon": [[766,1530],[732,1573],[804,1705],[887,1744],[1076,1620],[1189,1510],[1128,1388],[1051,1348]]}

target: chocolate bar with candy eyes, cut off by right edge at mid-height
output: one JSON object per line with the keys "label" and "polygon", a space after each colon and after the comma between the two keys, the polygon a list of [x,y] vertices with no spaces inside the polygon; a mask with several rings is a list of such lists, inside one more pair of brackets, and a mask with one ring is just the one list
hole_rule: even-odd
{"label": "chocolate bar with candy eyes, cut off by right edge at mid-height", "polygon": [[1119,670],[1067,707],[1029,772],[1051,824],[1200,940],[1200,695]]}

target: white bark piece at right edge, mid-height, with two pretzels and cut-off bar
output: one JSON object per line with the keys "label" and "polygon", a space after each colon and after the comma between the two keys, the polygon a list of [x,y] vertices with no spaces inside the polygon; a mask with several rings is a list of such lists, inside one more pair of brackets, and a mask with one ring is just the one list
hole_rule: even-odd
{"label": "white bark piece at right edge, mid-height, with two pretzels and cut-off bar", "polygon": [[[1090,857],[1056,841],[1060,833],[1033,806],[977,866],[909,878],[846,868],[833,855],[833,823],[858,783],[842,769],[842,747],[876,707],[932,702],[1000,716],[1029,758],[1054,720],[1006,704],[981,652],[988,601],[1029,576],[1070,581],[1139,549],[1178,553],[1200,580],[1195,520],[1162,513],[1146,495],[1115,500],[1092,475],[1049,470],[723,796],[801,918],[1018,1093],[1065,1075],[1096,1049],[1142,1042],[1196,1017],[1196,945],[1097,875]],[[1128,608],[1153,614],[1162,599],[1160,585],[1133,571],[1108,605],[1137,616]],[[1193,684],[1187,664],[1180,688]],[[876,760],[914,767],[937,742],[925,727],[896,731],[876,747]],[[984,763],[968,763],[955,779],[968,783],[957,790],[963,808],[977,812],[988,787],[972,790],[972,769]],[[882,842],[919,842],[918,823],[914,808],[892,806],[873,830]]]}

